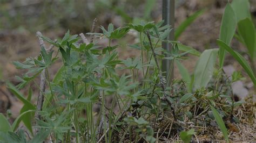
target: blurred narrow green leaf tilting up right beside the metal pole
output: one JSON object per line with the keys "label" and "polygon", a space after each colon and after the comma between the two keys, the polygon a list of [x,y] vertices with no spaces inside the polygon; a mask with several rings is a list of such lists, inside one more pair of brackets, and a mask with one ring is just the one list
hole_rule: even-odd
{"label": "blurred narrow green leaf tilting up right beside the metal pole", "polygon": [[174,33],[174,39],[177,40],[179,38],[179,36],[181,35],[181,33],[183,33],[183,31],[186,30],[186,28],[188,26],[190,26],[194,20],[196,20],[199,16],[201,16],[203,13],[205,12],[205,9],[203,10],[199,10],[195,13],[193,13],[192,16],[188,17],[186,20],[184,20],[184,22],[182,22],[178,28],[175,29],[175,33]]}

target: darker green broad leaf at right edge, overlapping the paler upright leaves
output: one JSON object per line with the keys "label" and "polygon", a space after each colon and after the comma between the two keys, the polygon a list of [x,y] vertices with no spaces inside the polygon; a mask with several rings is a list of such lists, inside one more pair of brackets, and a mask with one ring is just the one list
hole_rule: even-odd
{"label": "darker green broad leaf at right edge, overlapping the paler upright leaves", "polygon": [[238,22],[238,33],[245,42],[251,59],[254,58],[255,52],[255,27],[251,19],[246,18]]}

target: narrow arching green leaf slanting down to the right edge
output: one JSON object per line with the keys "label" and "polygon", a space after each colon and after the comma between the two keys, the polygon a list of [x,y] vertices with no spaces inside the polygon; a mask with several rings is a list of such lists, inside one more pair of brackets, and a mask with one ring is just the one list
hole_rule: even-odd
{"label": "narrow arching green leaf slanting down to the right edge", "polygon": [[219,39],[217,40],[217,44],[219,45],[219,47],[226,49],[226,51],[228,51],[235,58],[235,60],[237,60],[240,63],[242,68],[244,68],[246,73],[251,77],[251,80],[252,80],[254,86],[256,86],[256,79],[253,74],[253,71],[252,71],[251,67],[249,66],[248,62],[244,59],[244,57],[241,56],[239,53],[233,51],[233,49],[230,46],[227,46],[225,44],[225,42],[223,42]]}

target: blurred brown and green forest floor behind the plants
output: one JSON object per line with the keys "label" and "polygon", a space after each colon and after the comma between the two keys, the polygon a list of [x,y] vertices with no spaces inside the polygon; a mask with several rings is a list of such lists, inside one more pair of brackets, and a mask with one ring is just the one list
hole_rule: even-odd
{"label": "blurred brown and green forest floor behind the plants", "polygon": [[[15,75],[21,76],[23,73],[23,70],[16,69],[12,65],[13,61],[24,61],[28,56],[39,54],[36,31],[41,31],[51,39],[57,39],[63,37],[67,30],[70,30],[71,34],[90,32],[94,18],[98,19],[96,32],[100,32],[98,28],[100,25],[106,27],[109,23],[120,27],[125,23],[139,23],[142,20],[158,22],[161,20],[161,2],[161,0],[0,0],[0,112],[6,112],[6,109],[12,106],[19,106],[11,104],[8,99],[11,96],[4,82],[8,80],[17,85],[18,80]],[[221,17],[226,3],[227,0],[176,0],[174,27],[194,12],[205,9],[203,15],[197,18],[178,40],[200,52],[207,48],[217,48],[215,41],[219,37]],[[251,14],[255,23],[256,0],[251,0]],[[123,47],[134,41],[136,36],[125,39],[122,42]],[[246,51],[235,40],[232,41],[232,47],[239,52]],[[134,53],[126,51],[121,56],[130,54]],[[197,57],[190,58],[192,60],[184,61],[184,65],[192,71]],[[231,56],[227,56],[226,59],[225,65],[228,71],[241,69]],[[53,69],[53,73],[56,70]],[[178,78],[178,71],[175,72]],[[251,88],[250,81],[242,82],[239,87],[243,89],[238,90],[248,94]],[[15,99],[12,102],[15,102]]]}

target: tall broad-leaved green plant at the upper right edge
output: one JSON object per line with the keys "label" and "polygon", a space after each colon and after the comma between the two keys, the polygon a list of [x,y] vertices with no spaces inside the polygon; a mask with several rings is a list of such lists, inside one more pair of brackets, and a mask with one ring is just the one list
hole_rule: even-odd
{"label": "tall broad-leaved green plant at the upper right edge", "polygon": [[[240,8],[240,6],[242,6],[242,8]],[[235,34],[236,27],[237,34]],[[237,38],[247,48],[251,67],[238,52],[235,52],[229,46],[233,37]],[[220,40],[217,40],[217,44],[220,47],[220,68],[223,67],[225,51],[228,51],[245,69],[255,86],[255,27],[251,20],[250,3],[247,0],[236,0],[231,4],[227,4],[221,23]]]}

